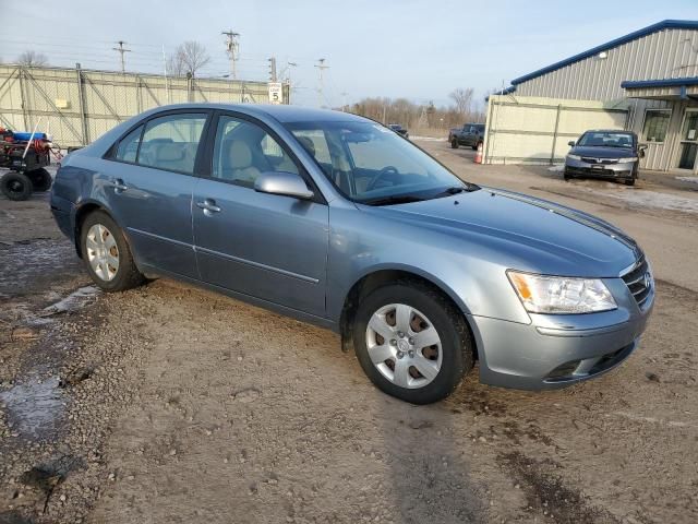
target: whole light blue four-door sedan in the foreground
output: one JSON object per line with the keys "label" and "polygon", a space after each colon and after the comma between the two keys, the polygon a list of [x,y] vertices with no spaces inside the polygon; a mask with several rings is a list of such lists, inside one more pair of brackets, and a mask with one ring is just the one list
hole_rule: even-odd
{"label": "whole light blue four-door sedan in the foreground", "polygon": [[502,386],[599,376],[636,348],[654,299],[623,231],[464,182],[344,112],[153,109],[69,155],[51,210],[101,289],[167,276],[333,329],[416,404],[476,360]]}

